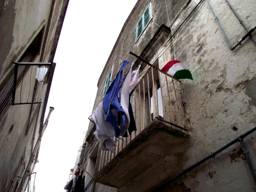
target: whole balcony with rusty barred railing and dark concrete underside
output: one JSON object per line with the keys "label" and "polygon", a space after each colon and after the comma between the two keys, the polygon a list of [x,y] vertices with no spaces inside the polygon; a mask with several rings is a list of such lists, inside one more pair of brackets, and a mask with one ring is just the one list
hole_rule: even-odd
{"label": "whole balcony with rusty barred railing and dark concrete underside", "polygon": [[116,154],[100,151],[94,181],[118,191],[148,191],[182,170],[189,133],[184,129],[182,84],[145,67],[131,97],[137,131],[113,138]]}

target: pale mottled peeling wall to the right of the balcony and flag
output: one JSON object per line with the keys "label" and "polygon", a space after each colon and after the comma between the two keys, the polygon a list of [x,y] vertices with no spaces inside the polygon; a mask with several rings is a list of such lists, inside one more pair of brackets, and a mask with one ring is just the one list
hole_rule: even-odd
{"label": "pale mottled peeling wall to the right of the balcony and flag", "polygon": [[[235,0],[230,3],[245,25],[249,29],[254,27],[254,3]],[[225,1],[210,1],[210,4],[234,45],[246,33],[244,28]],[[174,42],[176,57],[187,65],[194,78],[194,81],[183,80],[186,127],[191,130],[191,148],[183,167],[187,169],[256,125],[255,98],[251,95],[256,90],[253,83],[256,47],[248,38],[231,51],[206,2],[181,31]],[[170,59],[166,58],[164,63],[167,60]],[[254,137],[255,134],[247,137],[245,144],[255,166]],[[179,185],[191,191],[255,190],[238,143],[187,174],[176,185],[169,183],[156,191],[172,191]]]}

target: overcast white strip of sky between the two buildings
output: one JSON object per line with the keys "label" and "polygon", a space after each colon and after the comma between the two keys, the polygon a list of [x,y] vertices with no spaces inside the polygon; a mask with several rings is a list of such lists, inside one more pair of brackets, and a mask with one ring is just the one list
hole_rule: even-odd
{"label": "overcast white strip of sky between the two buildings", "polygon": [[36,192],[65,191],[89,125],[98,78],[136,2],[69,1],[54,58],[46,116],[50,106],[54,111],[40,147]]}

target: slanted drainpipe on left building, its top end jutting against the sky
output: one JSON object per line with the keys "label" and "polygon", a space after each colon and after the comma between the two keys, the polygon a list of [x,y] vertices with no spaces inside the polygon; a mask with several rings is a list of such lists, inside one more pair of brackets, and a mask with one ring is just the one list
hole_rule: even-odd
{"label": "slanted drainpipe on left building, its top end jutting against the sky", "polygon": [[[44,125],[43,125],[43,128],[42,128],[41,137],[37,139],[37,143],[34,147],[33,153],[31,154],[30,160],[28,161],[28,165],[27,165],[25,173],[23,174],[23,177],[24,177],[24,175],[27,176],[27,175],[30,174],[30,168],[31,168],[32,163],[34,162],[34,160],[36,160],[36,155],[37,155],[39,145],[41,143],[41,139],[43,137],[44,131],[46,130],[50,115],[51,115],[53,110],[54,110],[54,107],[50,107],[50,111],[48,113],[48,116],[47,116],[46,121],[44,122]],[[26,180],[26,178],[25,178],[25,180]],[[27,185],[26,182],[22,182],[22,189],[25,189],[26,185]]]}

